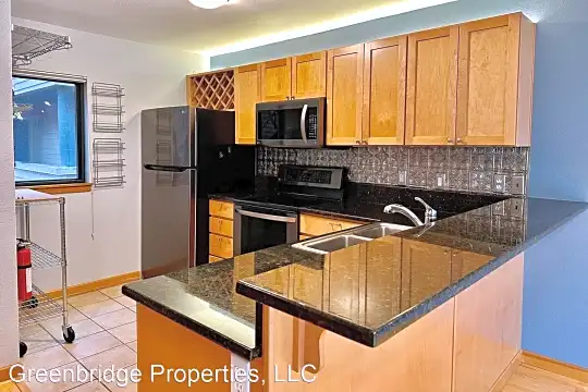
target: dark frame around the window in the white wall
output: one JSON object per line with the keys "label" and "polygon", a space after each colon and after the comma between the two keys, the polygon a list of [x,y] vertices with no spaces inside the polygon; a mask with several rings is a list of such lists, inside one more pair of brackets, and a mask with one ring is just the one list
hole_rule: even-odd
{"label": "dark frame around the window in the white wall", "polygon": [[[12,77],[34,78],[47,82],[70,83],[75,85],[76,94],[76,154],[77,154],[77,177],[59,180],[37,180],[37,181],[16,181],[16,187],[34,187],[44,185],[71,185],[85,184],[87,182],[86,164],[86,91],[87,78],[78,75],[68,75],[35,70],[12,70]],[[12,100],[11,100],[12,101]]]}

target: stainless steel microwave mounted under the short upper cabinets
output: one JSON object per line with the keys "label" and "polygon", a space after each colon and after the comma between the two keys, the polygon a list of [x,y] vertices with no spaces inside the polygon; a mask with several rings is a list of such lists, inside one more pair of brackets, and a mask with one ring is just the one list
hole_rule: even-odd
{"label": "stainless steel microwave mounted under the short upper cabinets", "polygon": [[323,97],[257,103],[256,114],[259,145],[298,148],[324,145]]}

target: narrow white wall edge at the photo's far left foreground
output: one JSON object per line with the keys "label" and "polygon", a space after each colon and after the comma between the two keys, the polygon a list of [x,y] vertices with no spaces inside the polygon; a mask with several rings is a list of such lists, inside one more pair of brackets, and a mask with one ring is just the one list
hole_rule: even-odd
{"label": "narrow white wall edge at the photo's far left foreground", "polygon": [[10,0],[0,0],[0,368],[19,359]]}

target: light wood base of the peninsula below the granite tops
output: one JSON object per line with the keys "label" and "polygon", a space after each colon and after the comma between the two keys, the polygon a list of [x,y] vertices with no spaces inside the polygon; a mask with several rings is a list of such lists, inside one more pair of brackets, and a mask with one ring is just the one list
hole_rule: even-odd
{"label": "light wood base of the peninsula below the granite tops", "polygon": [[[425,316],[399,327],[390,339],[381,336],[376,347],[264,305],[262,356],[249,364],[264,382],[250,383],[249,391],[499,392],[520,358],[523,271],[519,255],[433,310],[424,309]],[[154,364],[215,371],[234,358],[228,348],[142,305],[137,338],[139,392],[188,389],[161,376],[151,381],[145,375]],[[232,391],[222,381],[198,382],[191,390]]]}

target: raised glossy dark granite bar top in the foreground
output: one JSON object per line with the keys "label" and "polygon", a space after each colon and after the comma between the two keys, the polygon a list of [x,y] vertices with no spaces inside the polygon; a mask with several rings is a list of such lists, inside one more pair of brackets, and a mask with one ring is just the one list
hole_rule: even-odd
{"label": "raised glossy dark granite bar top in the foreground", "polygon": [[375,347],[587,208],[507,199],[242,279],[237,293]]}

